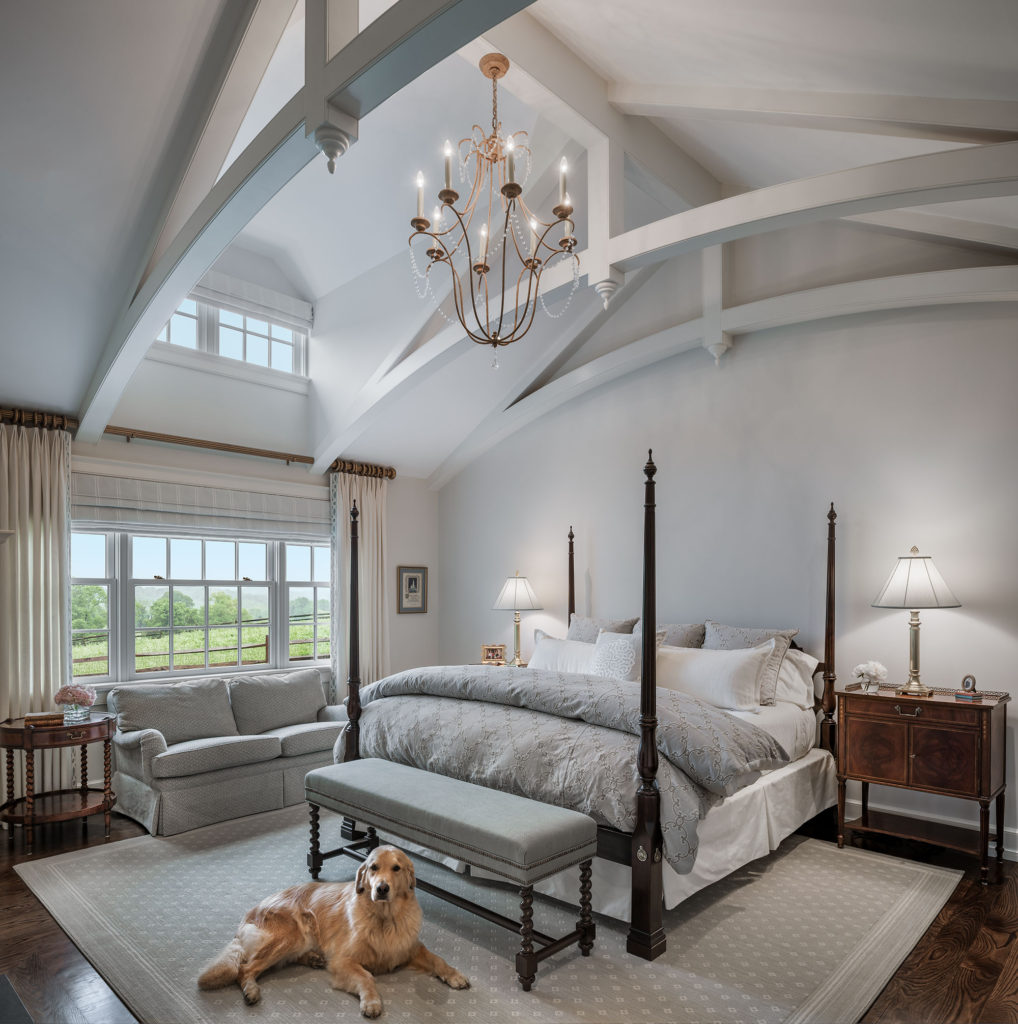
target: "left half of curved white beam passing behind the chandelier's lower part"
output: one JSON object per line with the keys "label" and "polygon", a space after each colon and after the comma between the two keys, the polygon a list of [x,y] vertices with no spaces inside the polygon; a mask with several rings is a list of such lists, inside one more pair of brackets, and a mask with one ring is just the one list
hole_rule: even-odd
{"label": "left half of curved white beam passing behind the chandelier's lower part", "polygon": [[[582,258],[583,254],[580,255]],[[546,302],[551,302],[563,290],[571,287],[571,261],[559,261],[555,266],[548,267],[541,276],[541,291]],[[492,299],[493,305],[499,305],[500,302],[501,295]],[[315,449],[311,471],[324,473],[330,463],[342,456],[373,423],[389,415],[402,395],[475,347],[476,342],[466,336],[463,325],[450,324],[420,348],[409,353],[384,377],[373,377],[360,389],[357,400],[344,420]]]}

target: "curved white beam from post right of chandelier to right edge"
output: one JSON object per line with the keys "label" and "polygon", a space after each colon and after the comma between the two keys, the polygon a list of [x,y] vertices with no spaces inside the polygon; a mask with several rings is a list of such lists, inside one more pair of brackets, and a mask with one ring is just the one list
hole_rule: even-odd
{"label": "curved white beam from post right of chandelier to right edge", "polygon": [[1018,193],[1018,142],[949,150],[758,188],[612,239],[610,262],[631,270],[765,231],[899,207]]}

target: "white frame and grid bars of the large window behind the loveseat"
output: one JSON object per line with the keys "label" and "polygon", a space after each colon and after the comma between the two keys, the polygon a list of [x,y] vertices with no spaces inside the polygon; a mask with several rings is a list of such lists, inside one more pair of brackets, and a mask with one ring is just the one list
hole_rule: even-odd
{"label": "white frame and grid bars of the large window behind the loveseat", "polygon": [[[289,615],[289,593],[291,586],[310,586],[326,588],[330,592],[330,611],[332,608],[332,585],[330,582],[305,583],[303,581],[289,582],[286,578],[286,546],[295,544],[307,546],[311,549],[315,547],[328,548],[328,542],[323,544],[323,540],[305,540],[303,538],[266,536],[257,530],[239,536],[236,531],[218,532],[209,529],[180,529],[179,527],[152,527],[152,528],[102,528],[95,527],[89,523],[73,523],[72,531],[75,534],[100,534],[107,539],[107,569],[113,570],[113,575],[107,579],[78,579],[72,578],[72,584],[103,585],[109,590],[109,674],[105,676],[77,676],[76,681],[82,683],[92,682],[146,682],[166,679],[186,679],[197,676],[208,676],[216,673],[228,673],[237,675],[245,672],[266,672],[279,671],[289,668],[324,668],[330,664],[330,658],[310,657],[293,660],[290,658],[290,615]],[[136,537],[165,538],[168,542],[174,539],[179,540],[200,540],[200,541],[228,541],[235,544],[245,542],[265,545],[265,579],[264,580],[183,580],[174,579],[167,575],[164,580],[140,579],[132,575],[132,547],[133,539]],[[167,544],[167,572],[170,571],[169,544]],[[202,548],[202,570],[205,569],[205,547]],[[311,554],[311,574],[313,575],[313,551]],[[330,558],[330,571],[332,559]],[[172,632],[172,588],[173,587],[250,587],[263,588],[268,591],[268,660],[251,665],[243,664],[243,650],[240,651],[240,665],[212,665],[200,666],[185,669],[157,669],[138,671],[135,667],[135,601],[134,595],[138,587],[167,587],[170,593],[170,617],[167,630]],[[206,634],[206,659],[208,659],[208,634],[216,629],[208,622],[208,602],[205,603],[205,623],[201,627]],[[243,643],[243,596],[238,609],[238,624],[236,627],[227,626],[226,629],[238,630],[240,642]],[[313,620],[319,616],[314,615]],[[179,629],[180,627],[177,627]],[[199,628],[199,627],[196,627]],[[143,629],[143,627],[142,627]],[[100,632],[98,630],[81,630],[77,632]],[[73,635],[73,634],[72,634]],[[332,637],[330,636],[330,644]],[[313,634],[315,646],[312,653],[317,653],[317,631]],[[172,650],[172,645],[168,644],[168,649]],[[330,652],[331,652],[330,646]],[[172,655],[170,656],[172,666]]]}

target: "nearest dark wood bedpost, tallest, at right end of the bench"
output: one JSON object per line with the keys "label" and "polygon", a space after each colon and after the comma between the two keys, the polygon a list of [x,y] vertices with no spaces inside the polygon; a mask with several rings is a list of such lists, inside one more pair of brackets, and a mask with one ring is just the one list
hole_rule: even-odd
{"label": "nearest dark wood bedpost, tallest, at right end of the bench", "polygon": [[640,676],[640,750],[637,765],[636,828],[632,844],[633,916],[626,939],[628,952],[655,959],[666,948],[663,927],[661,791],[658,788],[658,607],[654,551],[653,452],[647,453],[643,503],[643,630]]}

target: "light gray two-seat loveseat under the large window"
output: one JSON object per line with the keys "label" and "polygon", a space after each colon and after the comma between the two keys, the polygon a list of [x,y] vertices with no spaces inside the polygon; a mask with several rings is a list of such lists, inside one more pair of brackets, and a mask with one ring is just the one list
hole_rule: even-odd
{"label": "light gray two-seat loveseat under the large window", "polygon": [[347,721],[314,669],[118,686],[107,706],[117,810],[155,836],[302,803]]}

